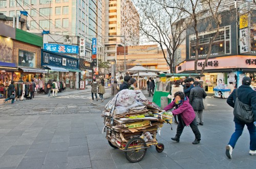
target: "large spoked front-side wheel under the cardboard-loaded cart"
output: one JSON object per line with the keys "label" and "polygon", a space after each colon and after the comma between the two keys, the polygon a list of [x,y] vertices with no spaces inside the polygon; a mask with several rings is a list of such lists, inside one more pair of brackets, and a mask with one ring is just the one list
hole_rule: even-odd
{"label": "large spoked front-side wheel under the cardboard-loaded cart", "polygon": [[142,138],[130,139],[124,148],[126,159],[130,162],[139,162],[146,154],[146,147],[146,142]]}

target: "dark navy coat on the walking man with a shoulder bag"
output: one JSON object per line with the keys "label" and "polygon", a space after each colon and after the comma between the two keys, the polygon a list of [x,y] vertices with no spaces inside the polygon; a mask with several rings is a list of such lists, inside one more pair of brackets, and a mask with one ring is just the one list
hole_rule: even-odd
{"label": "dark navy coat on the walking man with a shoulder bag", "polygon": [[[241,85],[238,89],[234,89],[227,98],[227,104],[231,107],[234,107],[234,103],[236,103],[236,90],[238,90],[238,99],[244,104],[251,105],[254,122],[256,122],[256,91],[252,90],[249,85]],[[234,117],[234,122],[239,123],[240,121]]]}

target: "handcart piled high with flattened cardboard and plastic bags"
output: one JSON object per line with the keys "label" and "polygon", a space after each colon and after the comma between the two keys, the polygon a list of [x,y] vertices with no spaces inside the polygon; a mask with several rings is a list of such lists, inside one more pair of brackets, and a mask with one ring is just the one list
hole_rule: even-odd
{"label": "handcart piled high with flattened cardboard and plastic bags", "polygon": [[102,117],[110,146],[124,151],[128,161],[138,162],[152,145],[159,153],[164,150],[157,131],[163,123],[172,123],[173,115],[148,102],[140,90],[125,89],[106,104]]}

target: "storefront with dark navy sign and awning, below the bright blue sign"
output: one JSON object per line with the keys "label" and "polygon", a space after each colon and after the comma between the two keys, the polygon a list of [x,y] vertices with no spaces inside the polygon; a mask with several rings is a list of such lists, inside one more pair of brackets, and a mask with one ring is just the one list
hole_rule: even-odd
{"label": "storefront with dark navy sign and awning, below the bright blue sign", "polygon": [[67,88],[79,88],[79,59],[47,50],[41,50],[41,56],[41,66],[47,70],[46,81],[63,81]]}

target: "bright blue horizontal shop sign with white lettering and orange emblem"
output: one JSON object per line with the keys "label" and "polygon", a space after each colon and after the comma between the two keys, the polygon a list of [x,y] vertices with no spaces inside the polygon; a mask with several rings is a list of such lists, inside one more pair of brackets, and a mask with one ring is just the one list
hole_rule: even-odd
{"label": "bright blue horizontal shop sign with white lettering and orange emblem", "polygon": [[44,49],[57,53],[78,54],[78,46],[75,45],[44,43]]}

